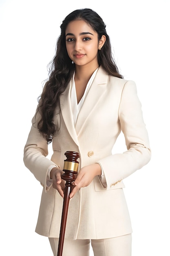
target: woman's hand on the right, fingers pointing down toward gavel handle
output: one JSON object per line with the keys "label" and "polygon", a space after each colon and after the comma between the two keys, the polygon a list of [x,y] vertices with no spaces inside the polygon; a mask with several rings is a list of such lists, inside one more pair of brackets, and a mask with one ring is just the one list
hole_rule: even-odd
{"label": "woman's hand on the right, fingers pointing down toward gavel handle", "polygon": [[95,176],[101,175],[102,170],[99,164],[91,164],[88,166],[84,166],[78,173],[75,181],[73,182],[73,190],[70,193],[70,198],[73,198],[75,193],[85,186],[88,186]]}

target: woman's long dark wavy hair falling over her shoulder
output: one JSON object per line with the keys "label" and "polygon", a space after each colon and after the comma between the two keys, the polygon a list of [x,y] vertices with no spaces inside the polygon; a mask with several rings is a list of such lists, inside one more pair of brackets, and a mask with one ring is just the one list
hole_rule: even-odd
{"label": "woman's long dark wavy hair falling over her shoulder", "polygon": [[110,38],[106,33],[106,25],[102,18],[92,9],[78,9],[66,16],[63,20],[61,34],[57,39],[56,54],[51,61],[49,68],[49,79],[46,81],[42,94],[38,98],[38,111],[41,118],[38,122],[38,130],[51,143],[53,135],[60,127],[56,127],[53,122],[54,112],[57,106],[60,107],[60,94],[64,92],[68,83],[71,81],[75,71],[75,64],[72,63],[66,50],[65,31],[69,22],[73,20],[84,20],[98,34],[98,40],[102,35],[106,36],[106,42],[101,50],[98,50],[98,63],[111,76],[123,78],[115,64]]}

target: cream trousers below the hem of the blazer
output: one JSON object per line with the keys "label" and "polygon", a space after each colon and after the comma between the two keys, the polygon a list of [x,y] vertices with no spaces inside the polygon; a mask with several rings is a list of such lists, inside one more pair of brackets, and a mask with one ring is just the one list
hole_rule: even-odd
{"label": "cream trousers below the hem of the blazer", "polygon": [[[54,256],[57,256],[58,238],[49,238]],[[118,236],[108,239],[64,240],[62,256],[89,256],[90,243],[94,256],[131,256],[132,235]]]}

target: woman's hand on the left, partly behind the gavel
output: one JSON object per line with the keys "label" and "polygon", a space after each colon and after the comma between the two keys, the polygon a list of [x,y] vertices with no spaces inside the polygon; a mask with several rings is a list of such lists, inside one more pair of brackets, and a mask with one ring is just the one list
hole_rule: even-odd
{"label": "woman's hand on the left, partly behind the gavel", "polygon": [[57,167],[54,167],[53,169],[51,169],[50,172],[50,177],[53,180],[53,188],[57,189],[57,191],[59,192],[59,194],[62,196],[62,198],[64,198],[64,189],[65,189],[65,181],[62,180],[61,175],[63,174],[63,171],[60,170]]}

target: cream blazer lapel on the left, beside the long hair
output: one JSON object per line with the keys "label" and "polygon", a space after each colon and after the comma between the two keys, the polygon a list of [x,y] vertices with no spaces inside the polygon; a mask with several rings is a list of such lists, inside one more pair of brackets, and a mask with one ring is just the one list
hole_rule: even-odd
{"label": "cream blazer lapel on the left, beside the long hair", "polygon": [[71,110],[71,82],[68,84],[66,90],[60,95],[60,108],[64,123],[66,124],[67,130],[75,143],[79,146],[75,126],[73,123],[72,110]]}

